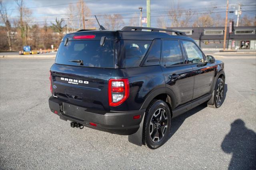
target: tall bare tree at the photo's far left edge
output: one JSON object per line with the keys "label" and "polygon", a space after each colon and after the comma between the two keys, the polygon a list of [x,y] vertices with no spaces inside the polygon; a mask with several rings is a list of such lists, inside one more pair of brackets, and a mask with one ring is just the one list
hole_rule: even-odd
{"label": "tall bare tree at the photo's far left edge", "polygon": [[7,30],[7,40],[8,40],[8,45],[9,45],[9,50],[12,51],[12,42],[11,42],[11,38],[10,38],[10,34],[11,34],[11,24],[8,20],[8,11],[6,9],[6,6],[3,4],[3,1],[0,0],[0,15],[1,18],[6,26],[6,30]]}

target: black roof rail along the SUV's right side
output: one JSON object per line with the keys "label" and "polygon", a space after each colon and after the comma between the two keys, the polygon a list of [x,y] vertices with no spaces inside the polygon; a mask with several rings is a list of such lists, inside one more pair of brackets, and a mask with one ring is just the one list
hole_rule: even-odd
{"label": "black roof rail along the SUV's right side", "polygon": [[176,31],[176,30],[167,30],[162,28],[150,28],[150,27],[130,27],[126,26],[122,28],[122,31],[142,31],[142,30],[151,30],[151,32],[159,32],[159,31],[166,31],[166,32],[174,32],[177,36],[186,36],[184,32]]}

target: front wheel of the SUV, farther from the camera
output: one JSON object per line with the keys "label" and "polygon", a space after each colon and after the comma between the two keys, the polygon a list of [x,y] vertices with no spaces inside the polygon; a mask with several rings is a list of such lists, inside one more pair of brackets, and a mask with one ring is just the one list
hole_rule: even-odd
{"label": "front wheel of the SUV, farther from the camera", "polygon": [[213,99],[213,105],[207,104],[208,107],[211,108],[218,108],[222,105],[224,102],[224,93],[225,93],[225,81],[222,78],[218,78],[217,83],[215,85],[214,89],[214,99]]}

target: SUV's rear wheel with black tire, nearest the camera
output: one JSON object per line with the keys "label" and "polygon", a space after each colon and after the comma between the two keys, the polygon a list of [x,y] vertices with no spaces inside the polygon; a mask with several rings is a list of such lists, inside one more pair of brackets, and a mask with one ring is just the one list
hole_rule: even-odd
{"label": "SUV's rear wheel with black tire, nearest the camera", "polygon": [[170,126],[171,113],[167,103],[154,99],[145,113],[142,136],[144,144],[150,149],[162,146],[168,140]]}

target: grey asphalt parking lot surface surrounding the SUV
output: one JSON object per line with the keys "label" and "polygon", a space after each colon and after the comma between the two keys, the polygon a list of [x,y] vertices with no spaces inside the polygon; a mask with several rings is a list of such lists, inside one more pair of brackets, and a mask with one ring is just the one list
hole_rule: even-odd
{"label": "grey asphalt parking lot surface surrounding the SUV", "polygon": [[0,169],[255,169],[256,57],[224,55],[226,100],[172,120],[157,150],[50,112],[49,59],[0,59]]}

